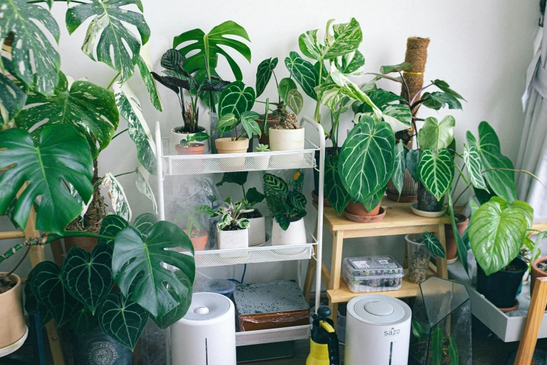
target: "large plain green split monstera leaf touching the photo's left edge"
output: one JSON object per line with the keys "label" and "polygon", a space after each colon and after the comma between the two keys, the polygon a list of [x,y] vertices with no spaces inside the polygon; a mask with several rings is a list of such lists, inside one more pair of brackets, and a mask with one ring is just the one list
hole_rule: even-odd
{"label": "large plain green split monstera leaf touching the photo's left edge", "polygon": [[92,157],[85,138],[70,126],[48,125],[37,138],[34,141],[28,131],[20,128],[0,132],[0,169],[15,164],[0,176],[0,214],[6,213],[28,181],[29,187],[15,203],[13,219],[26,227],[30,208],[41,196],[36,228],[63,234],[66,225],[82,210],[63,181],[71,183],[83,200],[88,201],[93,192]]}

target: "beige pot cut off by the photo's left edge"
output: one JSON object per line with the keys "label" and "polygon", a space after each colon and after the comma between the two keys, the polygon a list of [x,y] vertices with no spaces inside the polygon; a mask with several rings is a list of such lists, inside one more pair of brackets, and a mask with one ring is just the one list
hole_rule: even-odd
{"label": "beige pot cut off by the photo's left edge", "polygon": [[[0,275],[5,274],[0,273]],[[10,279],[17,280],[15,287],[0,294],[0,348],[17,342],[27,331],[24,325],[21,278],[11,274]]]}

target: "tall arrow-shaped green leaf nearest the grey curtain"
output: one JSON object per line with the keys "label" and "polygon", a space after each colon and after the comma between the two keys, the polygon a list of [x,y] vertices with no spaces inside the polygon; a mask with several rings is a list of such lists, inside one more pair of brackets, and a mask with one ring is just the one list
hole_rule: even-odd
{"label": "tall arrow-shaped green leaf nearest the grey curtain", "polygon": [[[476,146],[477,152],[483,164],[483,176],[497,196],[506,201],[516,199],[515,172],[513,162],[502,155],[502,148],[499,145],[499,138],[488,122],[479,124],[479,143],[471,132],[467,132],[467,143],[469,147]],[[491,169],[500,169],[492,170]]]}

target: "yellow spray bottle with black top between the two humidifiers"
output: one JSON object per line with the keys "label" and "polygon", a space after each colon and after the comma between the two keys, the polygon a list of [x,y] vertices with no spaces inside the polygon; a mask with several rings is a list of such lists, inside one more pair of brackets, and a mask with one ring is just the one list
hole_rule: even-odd
{"label": "yellow spray bottle with black top between the two humidifiers", "polygon": [[312,338],[309,340],[309,355],[306,365],[340,365],[338,336],[333,329],[333,320],[328,319],[330,308],[319,307],[312,315]]}

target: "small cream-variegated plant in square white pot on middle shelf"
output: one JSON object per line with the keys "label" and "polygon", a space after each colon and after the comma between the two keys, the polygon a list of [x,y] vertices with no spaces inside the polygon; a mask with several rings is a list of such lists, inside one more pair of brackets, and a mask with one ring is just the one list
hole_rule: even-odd
{"label": "small cream-variegated plant in square white pot on middle shelf", "polygon": [[217,232],[217,244],[219,250],[229,250],[233,248],[249,247],[249,220],[242,215],[251,213],[247,201],[242,200],[232,203],[232,198],[224,201],[215,212],[210,206],[200,206],[204,212],[207,212],[211,218],[220,217]]}

